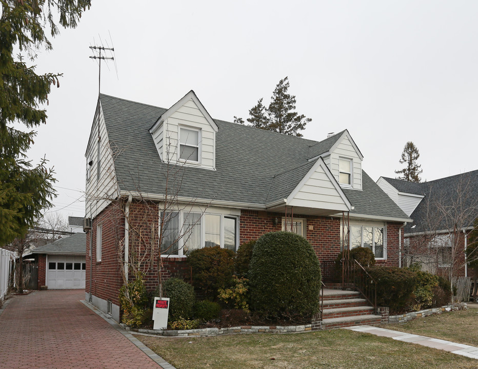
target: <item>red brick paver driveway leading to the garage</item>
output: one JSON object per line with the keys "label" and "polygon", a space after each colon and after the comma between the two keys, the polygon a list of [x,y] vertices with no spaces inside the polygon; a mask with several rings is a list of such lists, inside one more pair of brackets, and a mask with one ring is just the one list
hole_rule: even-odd
{"label": "red brick paver driveway leading to the garage", "polygon": [[85,290],[15,296],[0,315],[0,368],[161,368],[84,298]]}

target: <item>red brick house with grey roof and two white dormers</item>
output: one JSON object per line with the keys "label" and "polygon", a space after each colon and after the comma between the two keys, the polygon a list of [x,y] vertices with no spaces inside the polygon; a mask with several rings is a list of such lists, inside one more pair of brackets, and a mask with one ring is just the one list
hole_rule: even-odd
{"label": "red brick house with grey roof and two white dormers", "polygon": [[86,159],[86,298],[116,320],[123,273],[131,278],[122,260],[134,256],[148,289],[157,285],[147,245],[158,243],[165,198],[166,238],[189,231],[163,253],[164,278],[189,272],[191,250],[235,251],[280,230],[307,238],[328,278],[344,221],[350,247],[397,266],[411,221],[362,170],[347,130],[313,141],[213,119],[193,91],[169,109],[100,94]]}

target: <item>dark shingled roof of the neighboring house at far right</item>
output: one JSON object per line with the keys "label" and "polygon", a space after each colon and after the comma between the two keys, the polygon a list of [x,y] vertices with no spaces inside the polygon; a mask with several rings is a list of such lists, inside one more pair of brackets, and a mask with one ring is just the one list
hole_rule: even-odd
{"label": "dark shingled roof of the neighboring house at far right", "polygon": [[400,192],[425,196],[410,215],[413,223],[405,233],[450,230],[457,214],[459,227],[471,227],[478,216],[478,170],[423,183],[383,178]]}

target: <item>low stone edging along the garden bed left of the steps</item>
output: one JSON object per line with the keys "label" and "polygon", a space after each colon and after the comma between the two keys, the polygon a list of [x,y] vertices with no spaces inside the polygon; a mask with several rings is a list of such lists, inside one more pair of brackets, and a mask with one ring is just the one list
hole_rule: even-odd
{"label": "low stone edging along the garden bed left of the steps", "polygon": [[312,331],[312,324],[305,325],[241,325],[227,328],[204,328],[204,329],[193,329],[193,330],[183,330],[183,331],[154,331],[154,330],[145,330],[145,329],[135,329],[130,328],[125,324],[121,326],[131,332],[145,333],[156,336],[164,337],[188,337],[188,336],[201,336],[201,337],[210,337],[210,336],[220,336],[227,334],[236,334],[236,333],[298,333],[298,332],[310,332]]}

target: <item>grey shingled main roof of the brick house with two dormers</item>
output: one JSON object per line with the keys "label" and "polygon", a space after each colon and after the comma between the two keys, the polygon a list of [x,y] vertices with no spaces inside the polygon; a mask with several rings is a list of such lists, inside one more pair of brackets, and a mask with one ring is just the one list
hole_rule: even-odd
{"label": "grey shingled main roof of the brick house with two dormers", "polygon": [[[115,155],[115,173],[120,190],[163,194],[168,166],[158,155],[149,129],[167,109],[99,95],[108,137]],[[175,168],[181,178],[180,196],[266,204],[287,197],[312,168],[311,156],[330,150],[344,131],[323,141],[261,130],[214,119],[216,134],[215,169]],[[364,176],[364,178],[368,176]],[[367,180],[368,181],[368,180]],[[171,180],[169,180],[169,183]],[[367,215],[408,219],[388,197],[365,206],[382,190],[373,182],[364,191],[347,191],[361,203]],[[170,189],[171,191],[171,189]],[[383,192],[382,192],[383,193]],[[352,206],[355,204],[352,202]],[[355,210],[357,213],[357,210]]]}

